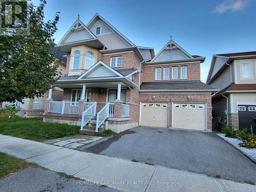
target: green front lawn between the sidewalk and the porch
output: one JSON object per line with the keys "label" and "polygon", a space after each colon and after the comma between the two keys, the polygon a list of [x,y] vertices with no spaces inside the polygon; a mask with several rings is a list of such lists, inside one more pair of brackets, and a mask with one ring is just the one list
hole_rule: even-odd
{"label": "green front lawn between the sidewalk and the porch", "polygon": [[44,141],[78,134],[79,127],[43,122],[42,118],[0,118],[0,134]]}

